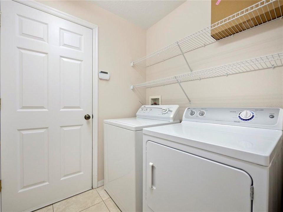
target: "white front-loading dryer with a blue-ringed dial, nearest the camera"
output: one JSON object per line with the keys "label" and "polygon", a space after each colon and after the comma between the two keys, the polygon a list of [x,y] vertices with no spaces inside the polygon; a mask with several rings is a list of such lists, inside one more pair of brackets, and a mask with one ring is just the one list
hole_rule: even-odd
{"label": "white front-loading dryer with a blue-ringed dial, nearest the camera", "polygon": [[283,110],[187,108],[143,130],[143,211],[280,211]]}

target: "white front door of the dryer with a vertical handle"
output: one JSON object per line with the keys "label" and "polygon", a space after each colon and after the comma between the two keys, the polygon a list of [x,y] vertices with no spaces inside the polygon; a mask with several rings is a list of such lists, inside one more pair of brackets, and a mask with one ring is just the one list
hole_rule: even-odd
{"label": "white front door of the dryer with a vertical handle", "polygon": [[248,173],[151,141],[146,202],[153,211],[251,211]]}

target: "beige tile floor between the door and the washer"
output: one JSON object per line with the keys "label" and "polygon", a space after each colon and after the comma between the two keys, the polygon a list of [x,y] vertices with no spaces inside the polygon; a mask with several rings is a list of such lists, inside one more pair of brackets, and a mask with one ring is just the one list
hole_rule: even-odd
{"label": "beige tile floor between the door and the washer", "polygon": [[34,212],[121,212],[104,186],[46,206]]}

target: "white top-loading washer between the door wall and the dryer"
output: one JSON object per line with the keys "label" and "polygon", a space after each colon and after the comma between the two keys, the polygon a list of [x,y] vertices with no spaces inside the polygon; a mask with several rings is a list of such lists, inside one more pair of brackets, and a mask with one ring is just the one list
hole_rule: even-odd
{"label": "white top-loading washer between the door wall and the dryer", "polygon": [[104,189],[121,211],[142,211],[142,129],[176,123],[179,105],[143,105],[136,118],[104,120]]}

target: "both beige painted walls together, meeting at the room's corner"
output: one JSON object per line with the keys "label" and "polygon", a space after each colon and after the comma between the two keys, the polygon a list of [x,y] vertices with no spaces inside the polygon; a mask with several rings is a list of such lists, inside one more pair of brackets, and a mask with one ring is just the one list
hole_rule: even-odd
{"label": "both beige painted walls together, meeting at the room's corner", "polygon": [[[40,1],[99,27],[99,69],[109,81],[99,80],[98,180],[103,179],[103,119],[134,117],[148,97],[162,95],[162,104],[179,104],[180,119],[188,101],[177,84],[129,89],[129,84],[188,72],[182,56],[147,68],[129,62],[154,52],[210,25],[210,1],[187,1],[147,31],[91,1]],[[277,20],[233,38],[186,53],[193,70],[201,70],[283,51],[283,22]],[[282,107],[282,67],[182,83],[192,106]],[[146,98],[147,97],[147,98]]]}

